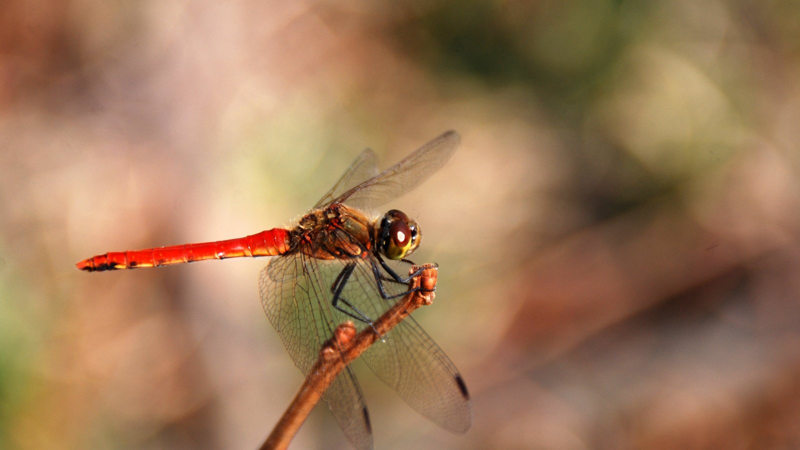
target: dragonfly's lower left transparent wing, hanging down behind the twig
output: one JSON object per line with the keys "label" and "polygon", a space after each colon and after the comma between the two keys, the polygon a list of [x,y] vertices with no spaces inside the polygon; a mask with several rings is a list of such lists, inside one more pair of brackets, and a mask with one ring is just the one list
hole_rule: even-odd
{"label": "dragonfly's lower left transparent wing, hanging down behind the twig", "polygon": [[[330,286],[342,267],[336,261],[320,263],[297,252],[272,259],[259,276],[266,316],[294,364],[306,375],[317,361],[322,344],[346,320],[330,305]],[[356,448],[372,448],[369,413],[350,367],[339,373],[322,399]]]}

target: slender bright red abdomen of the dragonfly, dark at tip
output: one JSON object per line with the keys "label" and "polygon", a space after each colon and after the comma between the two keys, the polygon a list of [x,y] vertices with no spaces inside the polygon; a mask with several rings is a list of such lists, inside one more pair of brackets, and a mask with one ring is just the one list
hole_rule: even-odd
{"label": "slender bright red abdomen of the dragonfly, dark at tip", "polygon": [[110,251],[75,264],[83,271],[114,271],[136,267],[160,267],[191,263],[203,259],[239,258],[242,256],[277,256],[290,250],[290,232],[273,228],[243,238],[205,243],[185,243],[144,250]]}

